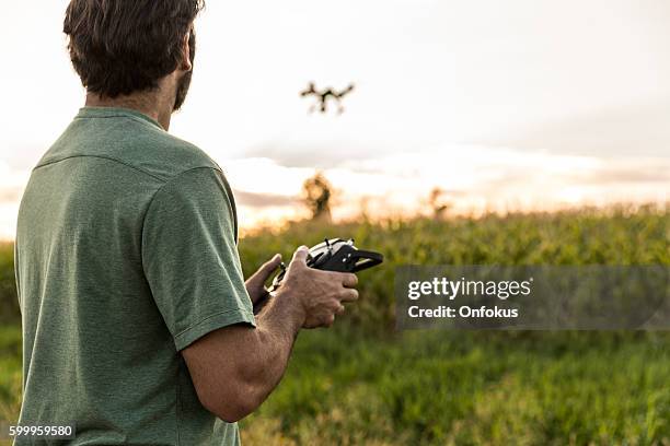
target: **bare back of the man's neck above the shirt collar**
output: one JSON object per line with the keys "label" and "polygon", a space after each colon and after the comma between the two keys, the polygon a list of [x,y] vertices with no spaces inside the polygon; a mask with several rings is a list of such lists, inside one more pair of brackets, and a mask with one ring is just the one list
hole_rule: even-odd
{"label": "bare back of the man's neck above the shirt collar", "polygon": [[130,108],[151,119],[158,121],[165,131],[170,128],[172,116],[172,103],[168,101],[160,91],[148,93],[135,93],[118,97],[101,97],[95,93],[86,93],[86,107],[119,107]]}

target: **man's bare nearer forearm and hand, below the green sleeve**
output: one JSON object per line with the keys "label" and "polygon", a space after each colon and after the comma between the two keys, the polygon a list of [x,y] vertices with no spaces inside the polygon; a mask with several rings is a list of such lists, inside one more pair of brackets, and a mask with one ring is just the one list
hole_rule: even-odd
{"label": "man's bare nearer forearm and hand, below the green sleeve", "polygon": [[182,351],[198,398],[220,419],[253,412],[286,371],[300,328],[327,327],[342,302],[355,301],[356,275],[307,267],[307,248],[296,251],[279,291],[256,317],[256,328],[215,330]]}

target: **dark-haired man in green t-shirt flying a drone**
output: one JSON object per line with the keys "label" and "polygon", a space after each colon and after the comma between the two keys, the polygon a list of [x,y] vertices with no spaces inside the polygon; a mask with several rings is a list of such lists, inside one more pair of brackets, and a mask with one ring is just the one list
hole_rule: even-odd
{"label": "dark-haired man in green t-shirt flying a drone", "polygon": [[308,268],[305,247],[273,296],[263,284],[279,256],[244,282],[221,168],[168,133],[200,9],[67,9],[85,107],[34,168],[15,245],[19,423],[74,424],[67,444],[238,444],[235,422],[277,386],[298,331],[330,326],[358,296],[354,274]]}

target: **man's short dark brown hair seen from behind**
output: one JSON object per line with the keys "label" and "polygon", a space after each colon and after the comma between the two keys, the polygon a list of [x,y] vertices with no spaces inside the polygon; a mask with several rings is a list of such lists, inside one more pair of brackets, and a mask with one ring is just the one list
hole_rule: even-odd
{"label": "man's short dark brown hair seen from behind", "polygon": [[155,89],[178,67],[203,8],[204,0],[71,0],[63,32],[81,83],[112,98]]}

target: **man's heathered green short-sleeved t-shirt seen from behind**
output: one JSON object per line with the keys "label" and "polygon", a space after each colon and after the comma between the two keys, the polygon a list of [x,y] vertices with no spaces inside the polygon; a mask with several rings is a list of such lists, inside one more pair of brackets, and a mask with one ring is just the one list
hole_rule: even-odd
{"label": "man's heathered green short-sleeved t-shirt seen from behind", "polygon": [[180,353],[255,325],[211,159],[138,111],[84,107],[32,173],[15,246],[21,424],[74,423],[72,445],[239,444]]}

